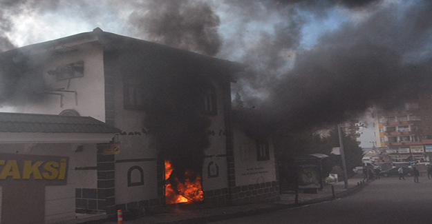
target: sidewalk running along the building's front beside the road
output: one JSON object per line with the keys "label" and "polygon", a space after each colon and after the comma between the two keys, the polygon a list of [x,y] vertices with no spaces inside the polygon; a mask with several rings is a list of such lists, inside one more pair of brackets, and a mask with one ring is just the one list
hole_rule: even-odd
{"label": "sidewalk running along the building's front beside the road", "polygon": [[[361,190],[368,182],[363,181],[361,174],[356,174],[353,178],[348,179],[348,189],[345,189],[344,181],[333,184],[335,189],[335,198],[341,198],[354,194]],[[361,184],[360,184],[361,183]],[[144,216],[135,220],[123,221],[124,224],[142,224],[142,223],[209,223],[212,221],[220,221],[229,218],[236,218],[263,212],[271,212],[274,210],[283,210],[290,207],[298,207],[302,205],[310,205],[323,201],[334,200],[331,185],[324,185],[322,191],[317,194],[299,193],[298,203],[295,204],[294,192],[283,192],[281,201],[272,203],[255,203],[248,205],[238,205],[229,207],[214,207],[202,210],[173,210],[170,213],[156,214],[152,216]],[[117,221],[100,222],[104,224],[117,224]]]}

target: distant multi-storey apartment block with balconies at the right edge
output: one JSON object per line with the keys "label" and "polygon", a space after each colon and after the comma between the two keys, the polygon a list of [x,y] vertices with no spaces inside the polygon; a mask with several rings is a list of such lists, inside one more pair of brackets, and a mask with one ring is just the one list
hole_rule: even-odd
{"label": "distant multi-storey apartment block with balconies at the right edge", "polygon": [[393,111],[373,112],[377,147],[387,147],[391,161],[431,161],[432,94],[402,103]]}

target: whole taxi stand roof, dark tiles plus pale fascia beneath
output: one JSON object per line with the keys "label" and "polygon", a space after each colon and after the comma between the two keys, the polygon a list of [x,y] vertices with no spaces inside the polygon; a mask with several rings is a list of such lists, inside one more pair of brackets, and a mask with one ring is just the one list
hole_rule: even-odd
{"label": "whole taxi stand roof, dark tiles plus pale fascia beneath", "polygon": [[0,112],[0,143],[106,143],[120,132],[90,116]]}

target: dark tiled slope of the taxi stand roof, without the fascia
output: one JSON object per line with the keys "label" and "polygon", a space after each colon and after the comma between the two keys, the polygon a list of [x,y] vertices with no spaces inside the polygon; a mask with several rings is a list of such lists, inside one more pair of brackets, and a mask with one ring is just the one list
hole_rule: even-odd
{"label": "dark tiled slope of the taxi stand roof, without the fascia", "polygon": [[0,132],[119,133],[120,129],[90,116],[0,112]]}

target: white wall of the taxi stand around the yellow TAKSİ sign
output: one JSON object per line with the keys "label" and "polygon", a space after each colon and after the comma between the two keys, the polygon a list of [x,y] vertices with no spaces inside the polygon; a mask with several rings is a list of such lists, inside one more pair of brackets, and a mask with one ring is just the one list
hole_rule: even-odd
{"label": "white wall of the taxi stand around the yellow TAKS\u0130 sign", "polygon": [[[84,144],[82,154],[75,152],[78,144],[0,144],[0,152],[16,154],[34,154],[42,156],[67,156],[68,176],[66,185],[50,185],[45,188],[45,221],[53,223],[75,218],[75,188],[95,188],[97,180],[91,175],[77,174],[77,165],[95,166],[96,144]],[[94,175],[93,175],[94,176]],[[97,178],[97,176],[95,176]]]}

